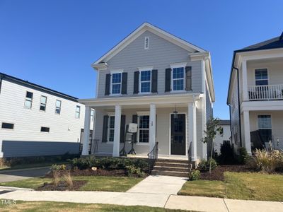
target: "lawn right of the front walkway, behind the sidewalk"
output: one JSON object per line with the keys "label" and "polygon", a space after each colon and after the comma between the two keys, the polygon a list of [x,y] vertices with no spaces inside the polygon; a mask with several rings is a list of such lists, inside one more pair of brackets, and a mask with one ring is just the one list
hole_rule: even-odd
{"label": "lawn right of the front walkway, behind the sidewalk", "polygon": [[224,177],[224,182],[209,180],[186,182],[178,194],[283,201],[283,175],[225,172]]}

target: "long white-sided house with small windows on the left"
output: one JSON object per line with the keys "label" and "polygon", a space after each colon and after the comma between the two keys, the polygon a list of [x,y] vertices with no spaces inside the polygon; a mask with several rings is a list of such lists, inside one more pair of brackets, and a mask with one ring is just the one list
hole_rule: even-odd
{"label": "long white-sided house with small windows on the left", "polygon": [[74,97],[0,73],[1,157],[79,153],[84,112]]}

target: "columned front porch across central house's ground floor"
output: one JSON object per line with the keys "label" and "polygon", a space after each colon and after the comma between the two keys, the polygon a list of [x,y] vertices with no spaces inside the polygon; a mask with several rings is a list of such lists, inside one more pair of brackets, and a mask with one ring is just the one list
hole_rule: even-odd
{"label": "columned front porch across central house's ground floor", "polygon": [[[81,102],[86,105],[85,129],[89,128],[89,111],[91,108],[96,110],[93,126],[93,139],[98,141],[96,155],[119,157],[124,145],[129,153],[131,143],[124,143],[125,126],[137,123],[138,131],[134,135],[137,154],[128,154],[128,157],[148,158],[147,154],[158,142],[158,158],[191,158],[192,161],[206,158],[206,146],[202,143],[204,120],[200,94],[101,98]],[[88,139],[84,139],[82,155],[88,155],[87,146]]]}

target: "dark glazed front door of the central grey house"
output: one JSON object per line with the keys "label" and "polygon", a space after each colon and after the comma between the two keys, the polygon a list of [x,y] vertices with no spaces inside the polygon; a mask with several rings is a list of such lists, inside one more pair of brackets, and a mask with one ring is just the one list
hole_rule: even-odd
{"label": "dark glazed front door of the central grey house", "polygon": [[171,155],[185,155],[185,114],[171,114]]}

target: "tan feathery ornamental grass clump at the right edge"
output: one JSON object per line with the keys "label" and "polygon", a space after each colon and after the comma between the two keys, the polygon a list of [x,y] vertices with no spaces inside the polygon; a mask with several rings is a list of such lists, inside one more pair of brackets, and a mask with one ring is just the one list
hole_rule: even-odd
{"label": "tan feathery ornamental grass clump at the right edge", "polygon": [[255,163],[258,170],[262,172],[273,172],[275,170],[283,169],[283,152],[271,151],[270,153],[265,150],[255,151]]}

